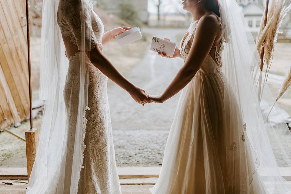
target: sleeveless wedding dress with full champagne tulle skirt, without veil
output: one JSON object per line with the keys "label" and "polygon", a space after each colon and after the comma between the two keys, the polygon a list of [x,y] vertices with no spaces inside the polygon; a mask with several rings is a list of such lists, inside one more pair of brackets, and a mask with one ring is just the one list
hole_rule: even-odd
{"label": "sleeveless wedding dress with full champagne tulle skirt, without veil", "polygon": [[[256,174],[245,133],[248,127],[232,89],[224,82],[221,37],[194,78],[182,90],[167,140],[155,194],[260,194],[265,193]],[[181,41],[184,62],[191,48],[198,21]],[[225,108],[226,107],[226,108]]]}

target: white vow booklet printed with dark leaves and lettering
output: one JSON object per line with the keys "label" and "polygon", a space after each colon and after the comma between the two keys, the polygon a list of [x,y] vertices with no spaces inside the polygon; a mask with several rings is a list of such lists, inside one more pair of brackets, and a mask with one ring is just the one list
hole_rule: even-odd
{"label": "white vow booklet printed with dark leaves and lettering", "polygon": [[176,43],[161,38],[152,37],[151,51],[163,52],[169,57],[173,57]]}

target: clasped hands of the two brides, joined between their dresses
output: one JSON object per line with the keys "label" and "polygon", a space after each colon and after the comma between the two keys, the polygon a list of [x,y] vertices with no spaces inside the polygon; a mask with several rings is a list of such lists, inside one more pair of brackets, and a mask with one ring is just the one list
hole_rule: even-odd
{"label": "clasped hands of the two brides, joined between their dresses", "polygon": [[139,87],[133,87],[128,91],[131,97],[141,105],[149,104],[152,102],[155,103],[163,103],[165,99],[163,99],[163,95],[149,95],[145,90]]}

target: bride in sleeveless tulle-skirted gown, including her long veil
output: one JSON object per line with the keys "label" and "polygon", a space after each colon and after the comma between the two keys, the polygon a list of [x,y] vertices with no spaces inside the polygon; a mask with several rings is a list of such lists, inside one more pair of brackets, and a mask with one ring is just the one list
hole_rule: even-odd
{"label": "bride in sleeveless tulle-skirted gown, including her long veil", "polygon": [[[243,68],[251,64],[244,60],[252,59],[252,55],[241,57],[248,52],[249,45],[241,49],[247,43],[245,36],[233,33],[243,32],[239,6],[234,0],[182,0],[182,4],[192,13],[193,22],[173,58],[182,58],[184,65],[162,95],[150,95],[153,102],[162,103],[183,89],[159,179],[150,190],[155,194],[273,192],[267,191],[257,170],[260,166],[260,170],[268,167],[278,172],[278,167],[265,136],[266,126],[256,104],[257,93],[251,89],[252,79],[247,77],[250,71]],[[236,15],[239,23],[232,22]],[[231,31],[237,29],[234,25],[242,26],[242,30]],[[239,45],[241,42],[236,38],[246,42]],[[224,45],[227,50],[222,55]],[[232,55],[230,50],[241,53]],[[159,55],[172,58],[164,53]],[[239,74],[243,75],[240,80]],[[245,90],[241,90],[240,84]],[[254,99],[244,102],[248,96]],[[275,180],[273,189],[281,187],[278,193],[287,193],[288,189],[281,184],[284,179],[275,174],[266,176],[267,180]]]}

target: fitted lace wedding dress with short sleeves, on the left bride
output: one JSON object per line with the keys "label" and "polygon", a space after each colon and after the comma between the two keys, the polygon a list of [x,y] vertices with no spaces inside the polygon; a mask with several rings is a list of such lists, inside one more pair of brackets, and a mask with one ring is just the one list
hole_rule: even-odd
{"label": "fitted lace wedding dress with short sleeves, on the left bride", "polygon": [[[71,187],[75,130],[77,127],[76,119],[79,106],[81,55],[79,50],[81,50],[82,42],[80,4],[86,2],[86,0],[62,0],[59,2],[57,12],[57,22],[61,28],[66,55],[69,58],[69,69],[64,89],[64,99],[69,120],[63,192],[68,194]],[[85,36],[84,46],[87,51],[97,45],[102,49],[104,26],[92,8],[93,5],[91,4],[92,15],[87,17],[91,18],[91,23],[87,23],[85,15],[85,34],[91,34],[91,36]],[[87,55],[85,55],[85,80],[88,80],[88,85],[85,84],[85,88],[88,87],[88,91],[85,89],[88,106],[85,108],[86,112],[83,120],[85,137],[83,137],[83,166],[80,172],[78,193],[119,194],[121,189],[115,163],[107,97],[107,77],[92,65]]]}

